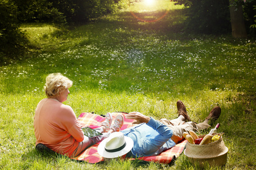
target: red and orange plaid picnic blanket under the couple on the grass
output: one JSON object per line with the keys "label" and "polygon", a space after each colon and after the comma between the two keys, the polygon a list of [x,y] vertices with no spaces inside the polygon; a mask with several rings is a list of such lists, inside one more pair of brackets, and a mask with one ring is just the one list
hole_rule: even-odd
{"label": "red and orange plaid picnic blanket under the couple on the grass", "polygon": [[[126,113],[113,112],[112,113],[113,118],[115,118],[118,114],[123,114],[123,116],[125,116]],[[98,128],[100,122],[103,122],[105,120],[105,118],[102,116],[99,116],[97,114],[81,113],[80,116],[77,118],[77,120],[79,120],[80,124],[83,127],[89,126],[90,128],[94,129],[94,128]],[[134,120],[125,118],[125,121],[124,121],[124,124],[123,124],[121,130],[130,128],[131,126],[133,126],[132,125],[133,121]],[[187,143],[187,141],[184,140],[184,141],[178,143],[176,146],[174,146],[166,151],[163,151],[161,154],[159,154],[157,156],[144,156],[144,157],[141,157],[138,159],[146,161],[146,162],[170,164],[170,163],[174,162],[174,160],[184,151],[186,143]],[[99,143],[94,144],[93,146],[89,147],[84,152],[82,152],[82,154],[80,154],[79,156],[77,156],[75,158],[71,158],[71,159],[85,161],[88,163],[99,163],[99,162],[104,161],[102,156],[100,156],[97,152],[98,145],[99,145]],[[134,158],[130,158],[130,159],[135,160]]]}

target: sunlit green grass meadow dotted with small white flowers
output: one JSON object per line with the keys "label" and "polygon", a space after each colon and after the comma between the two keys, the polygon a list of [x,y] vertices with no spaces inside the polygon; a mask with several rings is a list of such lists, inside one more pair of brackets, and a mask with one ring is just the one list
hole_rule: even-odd
{"label": "sunlit green grass meadow dotted with small white flowers", "polygon": [[[45,97],[46,76],[56,72],[73,80],[65,104],[77,116],[139,111],[171,119],[182,100],[200,122],[219,105],[228,162],[205,169],[256,168],[255,40],[184,33],[183,9],[161,2],[167,3],[162,10],[132,6],[64,33],[47,24],[22,25],[36,49],[0,67],[0,169],[199,169],[184,155],[170,167],[118,160],[94,165],[40,154],[34,112]],[[130,11],[148,20],[168,13],[142,22]]]}

